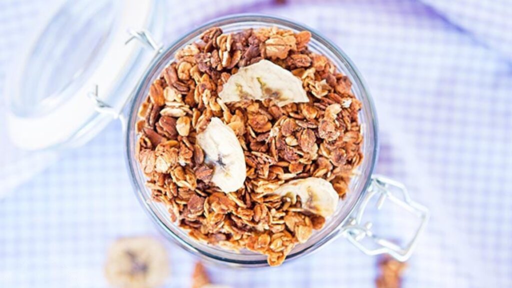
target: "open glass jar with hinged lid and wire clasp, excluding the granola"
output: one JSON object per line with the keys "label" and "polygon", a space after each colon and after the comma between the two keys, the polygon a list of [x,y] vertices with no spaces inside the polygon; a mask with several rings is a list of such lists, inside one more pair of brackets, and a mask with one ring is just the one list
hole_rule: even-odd
{"label": "open glass jar with hinged lid and wire clasp, excluding the granola", "polygon": [[[190,238],[170,221],[162,204],[151,200],[151,191],[145,187],[144,175],[134,156],[137,111],[150,85],[173,61],[175,53],[195,42],[208,28],[218,26],[224,32],[272,26],[307,30],[312,34],[309,49],[327,56],[338,71],[347,75],[353,94],[362,102],[359,118],[364,159],[351,180],[350,192],[324,228],[314,232],[307,242],[296,245],[287,260],[307,255],[337,236],[346,237],[366,254],[388,253],[398,260],[406,260],[429,214],[411,201],[400,183],[372,175],[378,152],[377,119],[368,89],[347,55],[308,27],[263,15],[233,15],[213,20],[164,50],[151,36],[162,35],[165,11],[162,5],[157,0],[101,0],[91,6],[90,2],[78,0],[50,12],[46,24],[34,30],[26,49],[14,59],[12,73],[7,75],[5,95],[11,140],[26,150],[62,150],[84,143],[109,121],[120,119],[134,191],[163,234],[207,260],[231,266],[266,266],[266,256],[248,251],[235,253]],[[85,6],[90,9],[81,9]],[[43,71],[45,75],[42,77],[34,71]],[[389,199],[421,220],[410,241],[399,246],[374,235],[370,223],[361,223],[367,204],[374,198],[379,203]]]}

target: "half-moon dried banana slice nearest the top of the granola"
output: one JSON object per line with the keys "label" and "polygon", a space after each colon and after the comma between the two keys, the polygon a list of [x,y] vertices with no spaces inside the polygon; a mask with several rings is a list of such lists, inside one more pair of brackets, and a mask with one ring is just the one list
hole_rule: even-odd
{"label": "half-moon dried banana slice nearest the top of the granola", "polygon": [[240,68],[229,77],[219,97],[224,102],[272,98],[278,106],[309,102],[302,81],[269,60]]}

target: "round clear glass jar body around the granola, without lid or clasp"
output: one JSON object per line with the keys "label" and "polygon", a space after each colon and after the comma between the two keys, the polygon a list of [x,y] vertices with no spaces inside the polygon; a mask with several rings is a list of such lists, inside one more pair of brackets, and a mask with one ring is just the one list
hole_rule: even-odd
{"label": "round clear glass jar body around the granola, without lid or clasp", "polygon": [[338,71],[344,73],[350,78],[352,81],[352,92],[362,103],[359,119],[361,122],[361,132],[364,137],[361,148],[364,159],[354,173],[346,199],[340,201],[334,215],[328,218],[324,228],[322,230],[315,231],[306,243],[296,245],[290,255],[288,255],[287,260],[307,255],[332,240],[335,236],[342,234],[340,233],[342,232],[341,228],[344,227],[358,203],[360,203],[362,198],[364,198],[364,195],[370,186],[373,168],[377,159],[378,138],[375,109],[371,96],[369,95],[368,89],[366,88],[360,73],[341,49],[336,47],[321,34],[303,25],[271,16],[233,15],[217,19],[214,22],[208,23],[189,32],[177,40],[173,45],[170,45],[165,51],[162,51],[160,56],[154,60],[153,64],[141,79],[130,105],[126,108],[127,127],[125,132],[125,158],[131,175],[134,191],[146,212],[158,224],[164,235],[167,238],[178,242],[184,249],[210,261],[231,266],[257,267],[267,265],[266,257],[263,255],[248,251],[241,251],[239,253],[232,252],[200,243],[190,238],[186,231],[183,231],[177,227],[175,223],[170,221],[167,209],[162,204],[151,200],[151,191],[145,187],[145,177],[134,157],[137,141],[137,135],[135,132],[137,111],[146,98],[150,85],[157,77],[159,77],[160,72],[174,60],[174,55],[178,50],[189,43],[196,42],[199,39],[200,34],[211,27],[220,27],[225,33],[239,32],[248,28],[264,27],[278,27],[295,32],[303,30],[310,31],[312,36],[309,43],[309,49],[328,57],[336,66]]}

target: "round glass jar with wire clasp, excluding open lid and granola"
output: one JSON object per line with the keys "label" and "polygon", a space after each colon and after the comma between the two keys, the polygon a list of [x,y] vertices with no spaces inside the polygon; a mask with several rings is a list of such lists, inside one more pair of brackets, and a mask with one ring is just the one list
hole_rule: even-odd
{"label": "round glass jar with wire clasp, excluding open lid and granola", "polygon": [[[225,33],[238,32],[247,28],[272,26],[295,32],[302,30],[310,31],[312,34],[309,43],[310,50],[327,56],[337,67],[338,71],[347,75],[352,81],[353,94],[362,102],[359,118],[362,124],[361,132],[364,136],[361,148],[364,159],[351,179],[347,197],[339,202],[336,212],[327,219],[324,228],[315,231],[306,243],[296,245],[287,256],[286,261],[308,255],[338,236],[346,237],[361,251],[369,255],[388,253],[401,261],[409,258],[418,236],[425,227],[426,221],[428,221],[429,213],[424,207],[410,199],[407,190],[402,184],[382,176],[373,175],[378,154],[377,118],[372,98],[360,73],[341,49],[318,32],[290,20],[264,15],[242,14],[219,18],[187,33],[167,49],[157,50],[159,55],[141,78],[135,89],[132,101],[125,108],[125,158],[133,188],[140,203],[152,220],[157,223],[163,234],[168,239],[176,241],[185,250],[209,261],[249,268],[267,265],[266,256],[264,255],[249,251],[241,251],[240,253],[228,251],[198,242],[189,237],[186,231],[170,221],[167,209],[163,204],[151,200],[151,191],[145,187],[145,176],[134,157],[137,142],[135,132],[135,124],[138,117],[137,111],[147,97],[151,84],[159,77],[160,72],[174,60],[174,55],[178,50],[189,43],[196,42],[203,31],[216,26],[221,27]],[[393,201],[420,218],[421,221],[418,229],[408,243],[399,246],[392,241],[380,238],[372,232],[371,223],[361,222],[367,204],[374,197],[378,197],[380,204],[386,199]]]}

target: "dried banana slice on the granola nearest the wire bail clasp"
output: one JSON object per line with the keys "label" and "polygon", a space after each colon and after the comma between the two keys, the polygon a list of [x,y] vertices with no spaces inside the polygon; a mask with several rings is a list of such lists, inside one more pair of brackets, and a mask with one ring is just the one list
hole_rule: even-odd
{"label": "dried banana slice on the granola nearest the wire bail clasp", "polygon": [[298,195],[301,197],[302,208],[323,217],[334,214],[339,201],[338,193],[332,184],[317,177],[289,181],[276,189],[274,193],[289,197],[293,203],[297,201]]}

